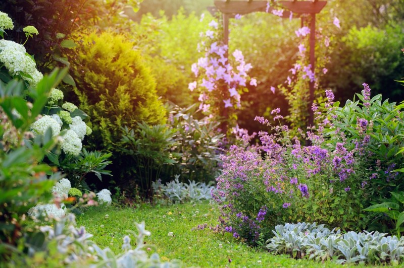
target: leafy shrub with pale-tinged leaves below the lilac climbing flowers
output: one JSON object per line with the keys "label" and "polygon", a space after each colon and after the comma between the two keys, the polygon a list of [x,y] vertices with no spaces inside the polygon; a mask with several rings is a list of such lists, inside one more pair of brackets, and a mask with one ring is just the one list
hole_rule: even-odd
{"label": "leafy shrub with pale-tinged leaves below the lilac climbing flowers", "polygon": [[213,181],[221,172],[220,147],[224,135],[218,131],[219,122],[207,117],[198,119],[200,110],[196,104],[186,108],[172,106],[168,123],[177,129],[174,152],[181,155],[180,161],[163,170],[162,181],[170,181],[178,175],[182,182]]}

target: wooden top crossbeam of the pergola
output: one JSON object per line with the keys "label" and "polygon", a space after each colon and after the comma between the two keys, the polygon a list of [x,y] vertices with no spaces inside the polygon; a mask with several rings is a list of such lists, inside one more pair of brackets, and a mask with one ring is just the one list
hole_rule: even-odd
{"label": "wooden top crossbeam of the pergola", "polygon": [[[265,12],[267,1],[229,1],[215,0],[215,6],[223,14],[248,14],[252,12]],[[326,1],[278,1],[284,8],[296,14],[317,14],[327,4]],[[290,14],[290,13],[289,13]],[[287,15],[287,14],[285,14]],[[288,17],[288,16],[285,16]]]}

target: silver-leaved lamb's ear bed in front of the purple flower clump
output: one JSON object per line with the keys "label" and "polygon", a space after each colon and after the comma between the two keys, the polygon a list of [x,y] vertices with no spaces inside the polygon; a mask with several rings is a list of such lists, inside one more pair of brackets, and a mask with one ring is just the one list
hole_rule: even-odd
{"label": "silver-leaved lamb's ear bed in front of the purple flower clump", "polygon": [[[347,232],[341,234],[324,225],[297,223],[277,225],[266,248],[276,253],[306,252],[310,259],[336,263],[399,264],[404,257],[404,238],[379,232]],[[303,254],[300,254],[302,256]]]}

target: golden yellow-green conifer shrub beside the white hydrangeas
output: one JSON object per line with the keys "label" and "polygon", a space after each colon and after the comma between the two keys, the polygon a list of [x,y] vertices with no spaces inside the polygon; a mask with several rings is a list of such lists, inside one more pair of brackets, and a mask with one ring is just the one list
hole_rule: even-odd
{"label": "golden yellow-green conifer shrub beside the white hydrangeas", "polygon": [[166,110],[156,93],[156,82],[133,43],[113,32],[83,32],[69,53],[79,108],[91,117],[95,147],[112,149],[121,126],[164,123]]}

